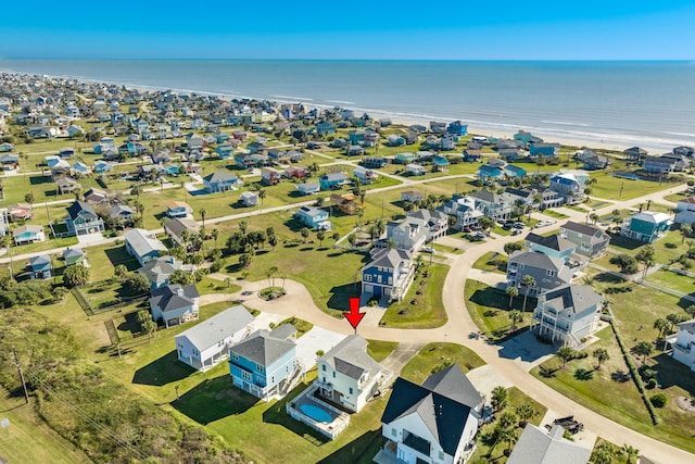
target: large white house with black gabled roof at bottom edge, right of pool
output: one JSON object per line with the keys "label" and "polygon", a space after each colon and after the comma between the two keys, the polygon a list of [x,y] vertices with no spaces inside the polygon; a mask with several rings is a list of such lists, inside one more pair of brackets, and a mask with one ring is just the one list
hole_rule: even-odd
{"label": "large white house with black gabled roof at bottom edge, right of pool", "polygon": [[399,377],[383,415],[377,463],[465,463],[476,449],[483,398],[457,364],[422,385]]}

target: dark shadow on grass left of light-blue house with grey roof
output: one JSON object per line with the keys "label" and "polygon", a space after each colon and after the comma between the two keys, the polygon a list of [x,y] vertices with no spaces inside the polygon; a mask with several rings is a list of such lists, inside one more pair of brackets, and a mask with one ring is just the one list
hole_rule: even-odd
{"label": "dark shadow on grass left of light-blue house with grey roof", "polygon": [[[182,363],[181,363],[182,364]],[[243,414],[260,400],[231,384],[229,374],[208,378],[170,403],[201,425]]]}

